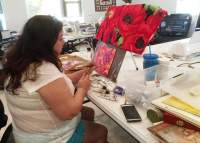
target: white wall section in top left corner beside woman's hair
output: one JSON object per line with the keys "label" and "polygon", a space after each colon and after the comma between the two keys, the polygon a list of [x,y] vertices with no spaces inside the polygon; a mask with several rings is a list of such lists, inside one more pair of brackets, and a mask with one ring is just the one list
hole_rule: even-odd
{"label": "white wall section in top left corner beside woman's hair", "polygon": [[26,0],[2,0],[6,29],[20,31],[27,20]]}

